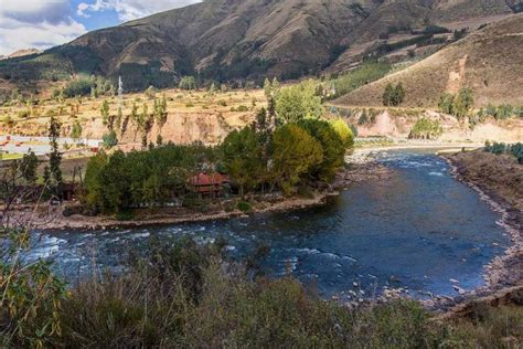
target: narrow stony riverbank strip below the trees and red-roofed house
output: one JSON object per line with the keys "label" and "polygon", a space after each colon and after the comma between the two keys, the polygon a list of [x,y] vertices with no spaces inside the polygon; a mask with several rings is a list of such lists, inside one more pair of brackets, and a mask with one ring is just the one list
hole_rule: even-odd
{"label": "narrow stony riverbank strip below the trees and red-roofed house", "polygon": [[227,220],[249,214],[266,212],[282,212],[301,210],[322,205],[329,197],[338,195],[340,190],[362,181],[384,180],[391,176],[392,171],[386,167],[372,160],[369,152],[355,151],[348,157],[348,163],[343,171],[340,171],[334,181],[325,188],[310,190],[299,197],[287,198],[281,193],[267,195],[254,195],[247,200],[249,209],[241,211],[237,203],[243,201],[239,198],[204,202],[205,208],[201,210],[183,207],[158,208],[153,211],[149,209],[137,209],[132,219],[118,220],[116,216],[83,214],[66,214],[65,212],[78,212],[79,203],[64,205],[40,205],[36,209],[32,205],[18,208],[11,214],[18,222],[31,222],[32,226],[41,231],[46,230],[116,230],[132,229],[139,226],[168,225],[188,222],[204,222],[214,220]]}

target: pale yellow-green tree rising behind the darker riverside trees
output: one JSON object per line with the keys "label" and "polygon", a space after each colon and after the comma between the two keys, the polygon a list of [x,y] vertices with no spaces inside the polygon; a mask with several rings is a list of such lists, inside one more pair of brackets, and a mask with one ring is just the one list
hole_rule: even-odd
{"label": "pale yellow-green tree rising behind the darker riverside trees", "polygon": [[322,114],[321,97],[316,95],[313,81],[281,88],[276,95],[276,115],[280,125],[302,118],[317,119]]}

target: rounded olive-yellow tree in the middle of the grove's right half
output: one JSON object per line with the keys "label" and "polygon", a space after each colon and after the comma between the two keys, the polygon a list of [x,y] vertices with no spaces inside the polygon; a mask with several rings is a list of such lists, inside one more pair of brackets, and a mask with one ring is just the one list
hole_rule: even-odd
{"label": "rounded olive-yellow tree in the middle of the grove's right half", "polygon": [[286,194],[322,161],[321,145],[298,125],[287,124],[274,133],[271,172]]}

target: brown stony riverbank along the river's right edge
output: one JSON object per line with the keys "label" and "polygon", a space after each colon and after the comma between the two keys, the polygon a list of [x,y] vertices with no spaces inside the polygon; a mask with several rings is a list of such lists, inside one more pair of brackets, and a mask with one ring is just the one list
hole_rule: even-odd
{"label": "brown stony riverbank along the river's right edge", "polygon": [[[512,245],[484,268],[485,286],[471,293],[460,292],[461,305],[477,297],[491,296],[505,288],[523,286],[523,166],[510,156],[497,156],[482,150],[441,155],[453,177],[476,190],[502,218]],[[456,287],[459,289],[458,285]],[[490,298],[489,298],[490,299]],[[456,299],[444,299],[447,307]],[[461,305],[458,306],[460,309]],[[441,305],[439,305],[441,307]],[[445,306],[444,306],[445,307]]]}

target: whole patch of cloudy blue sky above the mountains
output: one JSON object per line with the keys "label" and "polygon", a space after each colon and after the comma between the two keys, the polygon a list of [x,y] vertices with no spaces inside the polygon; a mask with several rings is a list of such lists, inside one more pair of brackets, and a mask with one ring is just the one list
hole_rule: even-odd
{"label": "whole patch of cloudy blue sky above the mountains", "polygon": [[0,55],[45,50],[88,31],[114,27],[201,0],[0,0]]}

